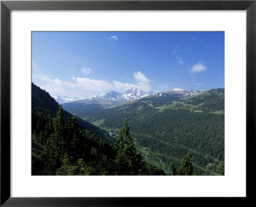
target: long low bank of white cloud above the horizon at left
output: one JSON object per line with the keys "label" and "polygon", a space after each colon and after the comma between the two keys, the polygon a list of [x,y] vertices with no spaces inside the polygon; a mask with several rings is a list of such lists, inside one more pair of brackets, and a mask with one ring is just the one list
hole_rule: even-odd
{"label": "long low bank of white cloud above the horizon at left", "polygon": [[104,81],[89,79],[87,77],[72,77],[72,81],[61,81],[40,73],[33,75],[33,82],[49,92],[51,96],[68,96],[83,98],[88,96],[102,95],[111,90],[124,92],[130,88],[140,88],[145,92],[150,91],[150,80],[140,71],[134,73],[137,84],[123,83],[119,81]]}

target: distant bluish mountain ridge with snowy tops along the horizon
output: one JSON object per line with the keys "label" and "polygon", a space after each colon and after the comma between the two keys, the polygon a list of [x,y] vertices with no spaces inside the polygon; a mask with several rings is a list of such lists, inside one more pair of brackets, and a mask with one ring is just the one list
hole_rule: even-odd
{"label": "distant bluish mountain ridge with snowy tops along the horizon", "polygon": [[84,98],[82,100],[65,103],[62,106],[66,111],[76,114],[76,116],[79,116],[80,118],[85,118],[91,112],[117,107],[131,101],[140,101],[148,105],[158,107],[163,104],[168,104],[173,100],[195,96],[203,92],[204,91],[184,91],[182,89],[173,89],[173,91],[165,91],[148,95],[138,88],[131,88],[124,93],[110,91],[101,97]]}

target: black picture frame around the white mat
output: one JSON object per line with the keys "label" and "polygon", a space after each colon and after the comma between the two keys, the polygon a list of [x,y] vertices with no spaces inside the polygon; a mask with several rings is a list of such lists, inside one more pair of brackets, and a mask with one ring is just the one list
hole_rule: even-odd
{"label": "black picture frame around the white mat", "polygon": [[[239,200],[233,198],[232,201],[246,205],[244,202],[253,199],[256,148],[256,0],[1,1],[1,206],[162,206],[166,202],[177,205],[175,201],[180,202],[184,199],[184,197],[10,197],[10,12],[12,10],[246,10],[246,197],[240,197]],[[202,198],[187,199],[200,205],[201,201],[198,199]],[[211,203],[219,202],[215,201],[214,197],[207,199],[210,199]],[[222,199],[230,202],[230,198]]]}

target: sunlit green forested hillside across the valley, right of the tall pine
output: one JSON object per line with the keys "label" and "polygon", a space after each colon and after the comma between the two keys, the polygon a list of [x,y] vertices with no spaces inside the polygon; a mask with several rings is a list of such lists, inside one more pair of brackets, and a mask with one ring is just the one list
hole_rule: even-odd
{"label": "sunlit green forested hillside across the valley, right of the tall pine", "polygon": [[76,115],[114,138],[126,118],[141,155],[166,172],[178,169],[189,151],[196,174],[216,174],[225,160],[224,94],[220,88],[188,98],[148,96]]}

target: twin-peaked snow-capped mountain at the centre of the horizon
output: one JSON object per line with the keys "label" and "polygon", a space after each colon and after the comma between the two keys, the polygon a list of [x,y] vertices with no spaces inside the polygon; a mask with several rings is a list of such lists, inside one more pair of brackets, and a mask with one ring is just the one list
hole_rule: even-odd
{"label": "twin-peaked snow-capped mountain at the centre of the horizon", "polygon": [[108,100],[110,102],[127,102],[132,100],[138,100],[148,96],[145,91],[142,91],[138,88],[131,88],[125,91],[124,93],[118,93],[116,91],[110,91],[106,95],[99,97],[101,100]]}

